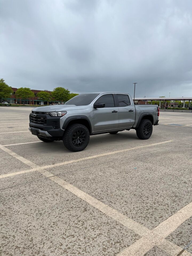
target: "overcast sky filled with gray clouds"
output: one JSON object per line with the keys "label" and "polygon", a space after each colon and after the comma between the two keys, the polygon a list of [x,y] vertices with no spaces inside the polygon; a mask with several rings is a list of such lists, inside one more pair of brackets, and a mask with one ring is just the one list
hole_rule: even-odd
{"label": "overcast sky filled with gray clouds", "polygon": [[192,96],[191,0],[0,0],[12,87]]}

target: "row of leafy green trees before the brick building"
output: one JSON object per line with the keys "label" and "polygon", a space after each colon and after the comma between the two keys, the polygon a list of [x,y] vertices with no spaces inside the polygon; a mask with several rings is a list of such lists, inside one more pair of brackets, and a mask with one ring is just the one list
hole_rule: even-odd
{"label": "row of leafy green trees before the brick building", "polygon": [[[13,94],[13,90],[11,86],[8,86],[4,79],[0,79],[0,103],[2,103],[2,99],[10,98],[10,94]],[[66,102],[69,99],[75,97],[78,95],[77,93],[71,93],[69,90],[63,88],[63,87],[56,87],[53,89],[51,93],[47,91],[40,91],[37,93],[37,97],[41,101],[59,101]],[[30,99],[34,98],[35,94],[33,91],[30,90],[30,88],[27,87],[21,87],[18,88],[15,92],[15,97],[19,99]]]}

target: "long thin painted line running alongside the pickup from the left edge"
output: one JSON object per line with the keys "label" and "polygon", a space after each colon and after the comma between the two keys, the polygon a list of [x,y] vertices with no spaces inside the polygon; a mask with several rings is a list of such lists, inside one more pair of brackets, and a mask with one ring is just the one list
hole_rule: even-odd
{"label": "long thin painted line running alongside the pickup from the left edge", "polygon": [[[61,163],[55,163],[54,165],[39,166],[39,167],[35,167],[34,169],[23,170],[23,171],[21,171],[19,173],[16,171],[16,172],[13,172],[13,173],[7,173],[7,174],[0,175],[0,179],[6,178],[6,177],[10,177],[10,176],[15,176],[15,175],[18,175],[18,174],[21,174],[21,173],[25,173],[25,172],[28,173],[28,172],[31,172],[31,171],[40,171],[40,170],[44,170],[44,169],[47,169],[47,168],[52,168],[52,167],[62,166],[62,165],[68,165],[70,163],[76,163],[76,162],[80,162],[80,161],[84,161],[84,160],[88,160],[88,159],[103,157],[103,156],[106,156],[106,155],[117,154],[117,153],[126,152],[126,151],[130,151],[130,150],[134,150],[134,149],[141,149],[141,148],[144,148],[144,147],[151,147],[151,146],[160,145],[160,144],[169,143],[169,142],[172,142],[172,140],[157,142],[157,143],[143,145],[143,146],[138,146],[138,147],[132,147],[132,148],[129,148],[129,149],[122,149],[122,150],[112,151],[112,152],[103,153],[103,154],[99,154],[99,155],[92,155],[90,157],[83,157],[83,158],[74,159],[74,160],[70,160],[70,161],[65,161],[65,162],[61,162]],[[5,146],[0,145],[0,149],[2,147],[5,148]]]}

